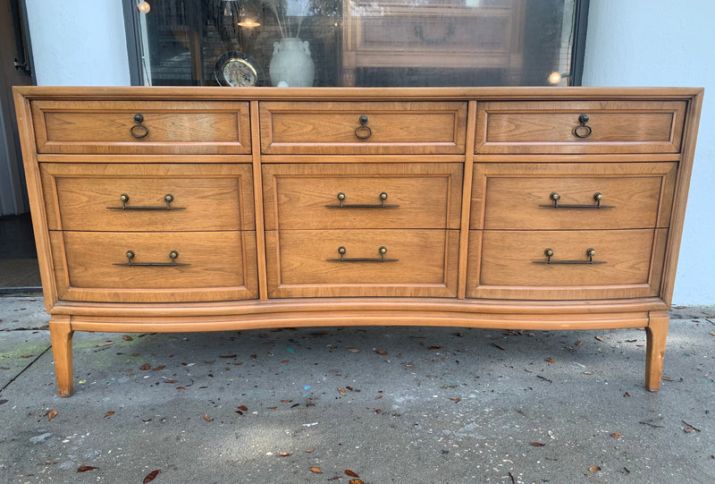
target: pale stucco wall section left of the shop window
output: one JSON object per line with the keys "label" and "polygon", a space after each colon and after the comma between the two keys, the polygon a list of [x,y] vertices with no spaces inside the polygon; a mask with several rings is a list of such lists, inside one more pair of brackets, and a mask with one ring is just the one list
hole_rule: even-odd
{"label": "pale stucco wall section left of the shop window", "polygon": [[122,0],[25,3],[38,85],[130,85]]}

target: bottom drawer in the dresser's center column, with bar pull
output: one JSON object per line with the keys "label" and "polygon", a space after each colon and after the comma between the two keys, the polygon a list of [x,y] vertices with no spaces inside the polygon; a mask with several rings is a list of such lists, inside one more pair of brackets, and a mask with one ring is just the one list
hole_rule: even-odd
{"label": "bottom drawer in the dresser's center column, with bar pull", "polygon": [[454,297],[458,239],[456,230],[268,231],[268,295]]}

